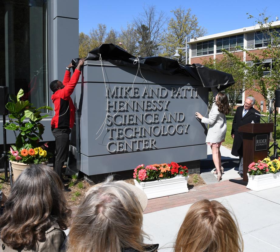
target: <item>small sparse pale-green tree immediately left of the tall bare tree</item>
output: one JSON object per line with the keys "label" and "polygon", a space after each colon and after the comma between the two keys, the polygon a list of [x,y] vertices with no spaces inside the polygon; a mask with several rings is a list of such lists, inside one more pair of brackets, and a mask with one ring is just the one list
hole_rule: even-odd
{"label": "small sparse pale-green tree immediately left of the tall bare tree", "polygon": [[126,29],[121,28],[121,33],[119,37],[121,47],[126,49],[128,53],[136,55],[137,53],[137,32],[134,27],[127,24]]}

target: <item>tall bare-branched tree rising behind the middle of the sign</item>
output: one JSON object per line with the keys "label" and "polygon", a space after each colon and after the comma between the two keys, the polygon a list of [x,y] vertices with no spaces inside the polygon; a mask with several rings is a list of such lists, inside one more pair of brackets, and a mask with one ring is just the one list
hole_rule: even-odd
{"label": "tall bare-branched tree rising behind the middle of the sign", "polygon": [[155,6],[143,9],[144,12],[134,19],[134,27],[138,34],[138,55],[150,57],[158,55],[166,17],[162,11],[157,12]]}

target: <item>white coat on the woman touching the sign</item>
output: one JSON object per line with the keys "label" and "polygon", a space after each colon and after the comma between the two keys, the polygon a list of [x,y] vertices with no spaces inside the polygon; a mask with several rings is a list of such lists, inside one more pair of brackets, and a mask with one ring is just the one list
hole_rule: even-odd
{"label": "white coat on the woman touching the sign", "polygon": [[227,119],[225,114],[218,111],[218,106],[213,103],[209,113],[209,118],[203,117],[202,123],[209,124],[209,129],[206,137],[207,143],[219,143],[226,137]]}

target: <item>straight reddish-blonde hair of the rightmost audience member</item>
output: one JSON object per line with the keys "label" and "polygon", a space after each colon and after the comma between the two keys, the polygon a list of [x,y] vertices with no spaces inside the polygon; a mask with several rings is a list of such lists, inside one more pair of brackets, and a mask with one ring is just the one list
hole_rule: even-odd
{"label": "straight reddish-blonde hair of the rightmost audience member", "polygon": [[216,200],[194,203],[180,227],[175,252],[242,252],[238,224]]}

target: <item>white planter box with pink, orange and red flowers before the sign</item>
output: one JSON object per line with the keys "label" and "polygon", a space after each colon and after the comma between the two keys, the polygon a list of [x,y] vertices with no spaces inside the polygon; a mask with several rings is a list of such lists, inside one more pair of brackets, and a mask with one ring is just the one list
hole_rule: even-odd
{"label": "white planter box with pink, orange and red flowers before the sign", "polygon": [[135,186],[142,189],[148,199],[189,192],[188,168],[175,162],[138,165],[134,169],[133,178]]}

